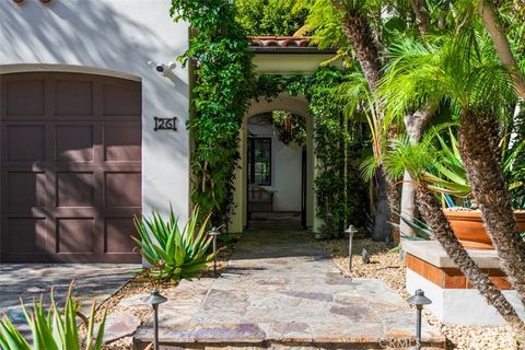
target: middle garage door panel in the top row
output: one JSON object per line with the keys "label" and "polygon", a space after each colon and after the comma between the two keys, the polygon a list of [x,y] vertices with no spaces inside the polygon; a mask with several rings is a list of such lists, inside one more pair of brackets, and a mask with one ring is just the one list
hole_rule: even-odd
{"label": "middle garage door panel in the top row", "polygon": [[93,115],[93,82],[78,80],[56,80],[55,115]]}

